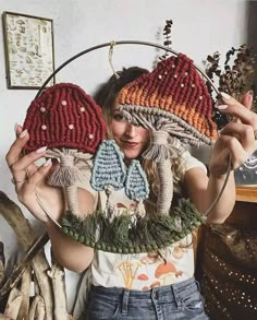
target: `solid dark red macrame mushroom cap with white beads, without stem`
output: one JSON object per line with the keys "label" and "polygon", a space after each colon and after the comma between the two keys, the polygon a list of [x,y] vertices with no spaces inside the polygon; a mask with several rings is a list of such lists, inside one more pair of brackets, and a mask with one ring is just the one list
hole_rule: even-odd
{"label": "solid dark red macrame mushroom cap with white beads, without stem", "polygon": [[60,83],[32,102],[23,128],[29,132],[27,151],[47,145],[95,154],[107,127],[89,95],[77,85]]}

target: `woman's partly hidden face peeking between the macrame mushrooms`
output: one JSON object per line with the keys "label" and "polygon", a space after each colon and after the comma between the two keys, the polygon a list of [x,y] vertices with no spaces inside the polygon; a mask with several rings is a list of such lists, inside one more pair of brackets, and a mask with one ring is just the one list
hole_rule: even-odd
{"label": "woman's partly hidden face peeking between the macrame mushrooms", "polygon": [[110,127],[126,161],[137,158],[149,142],[149,131],[126,122],[118,107],[113,109]]}

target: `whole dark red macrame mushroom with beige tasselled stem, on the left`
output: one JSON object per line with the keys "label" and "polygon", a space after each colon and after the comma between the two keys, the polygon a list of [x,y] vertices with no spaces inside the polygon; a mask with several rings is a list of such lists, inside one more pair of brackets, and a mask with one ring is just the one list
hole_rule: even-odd
{"label": "whole dark red macrame mushroom with beige tasselled stem, on the left", "polygon": [[29,132],[25,151],[47,145],[46,157],[59,161],[48,183],[64,188],[69,210],[79,215],[75,182],[84,177],[78,162],[90,158],[106,138],[100,107],[79,86],[56,84],[32,102],[23,128]]}

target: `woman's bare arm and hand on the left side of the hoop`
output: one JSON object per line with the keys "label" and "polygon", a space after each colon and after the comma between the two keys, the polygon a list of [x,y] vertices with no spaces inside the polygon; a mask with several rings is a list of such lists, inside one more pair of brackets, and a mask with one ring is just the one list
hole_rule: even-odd
{"label": "woman's bare arm and hand on the left side of the hoop", "polygon": [[[28,141],[29,134],[26,131],[22,132],[20,126],[16,133],[17,138],[7,154],[7,163],[13,175],[17,198],[46,226],[56,259],[64,268],[82,272],[90,264],[94,249],[72,240],[42,211],[37,202],[36,193],[46,211],[56,221],[60,221],[65,211],[62,190],[46,183],[46,178],[52,167],[50,161],[39,167],[35,165],[36,161],[45,156],[46,150],[40,149],[23,156],[22,150]],[[85,215],[94,210],[94,198],[86,190],[78,189],[78,203],[81,212]]]}

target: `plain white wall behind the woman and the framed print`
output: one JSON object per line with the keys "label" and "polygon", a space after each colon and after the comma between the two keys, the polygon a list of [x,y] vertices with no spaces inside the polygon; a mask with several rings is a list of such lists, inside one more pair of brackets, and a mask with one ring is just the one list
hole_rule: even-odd
{"label": "plain white wall behind the woman and the framed print", "polygon": [[[8,3],[7,3],[8,2]],[[173,20],[172,42],[176,51],[191,56],[197,64],[216,50],[224,54],[232,45],[245,40],[246,2],[238,0],[0,0],[0,11],[12,11],[53,19],[56,66],[73,55],[110,40],[136,39],[162,44],[161,29],[167,19]],[[1,27],[0,27],[1,28]],[[114,49],[115,69],[138,64],[151,68],[156,49],[119,46]],[[90,52],[72,62],[57,82],[74,82],[91,93],[96,85],[111,75],[108,49]],[[0,177],[1,190],[16,200],[4,155],[14,139],[14,123],[22,123],[26,108],[36,91],[8,90],[5,85],[4,50],[0,31]],[[29,220],[40,233],[41,226]],[[0,216],[0,240],[8,257],[16,249],[16,239]],[[69,301],[76,275],[68,272]]]}

